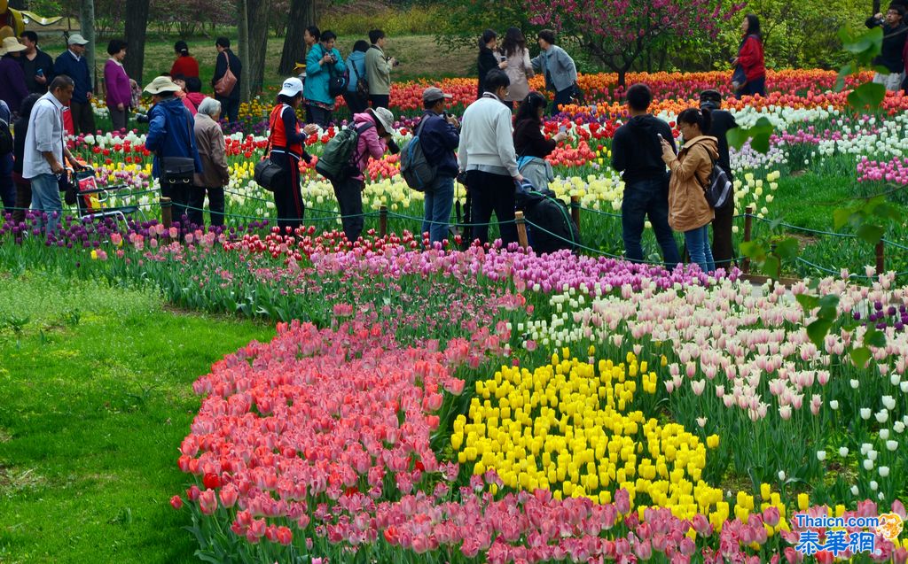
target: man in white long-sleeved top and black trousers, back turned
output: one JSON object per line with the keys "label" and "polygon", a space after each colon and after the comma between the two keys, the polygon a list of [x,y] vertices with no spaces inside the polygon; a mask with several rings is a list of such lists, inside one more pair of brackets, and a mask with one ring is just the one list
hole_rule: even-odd
{"label": "man in white long-sleeved top and black trousers, back turned", "polygon": [[514,223],[515,182],[522,182],[514,151],[511,111],[502,102],[508,95],[510,79],[498,69],[486,74],[486,90],[463,114],[458,165],[467,173],[467,190],[472,200],[473,237],[489,241],[489,219],[498,219],[501,242],[517,242]]}

